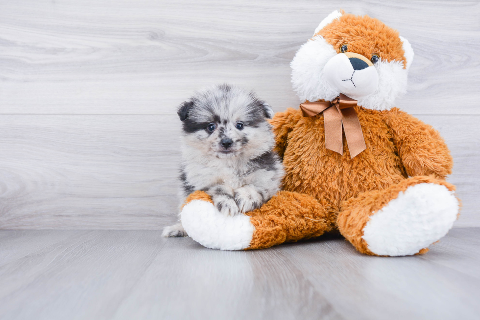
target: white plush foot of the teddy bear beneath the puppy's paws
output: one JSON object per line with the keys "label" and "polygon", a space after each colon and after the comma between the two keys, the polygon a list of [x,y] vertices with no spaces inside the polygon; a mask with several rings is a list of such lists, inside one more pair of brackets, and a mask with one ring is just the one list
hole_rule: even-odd
{"label": "white plush foot of the teddy bear beneath the puppy's paws", "polygon": [[193,240],[202,246],[220,250],[248,248],[255,227],[244,214],[228,216],[203,200],[193,200],[180,213],[182,225]]}

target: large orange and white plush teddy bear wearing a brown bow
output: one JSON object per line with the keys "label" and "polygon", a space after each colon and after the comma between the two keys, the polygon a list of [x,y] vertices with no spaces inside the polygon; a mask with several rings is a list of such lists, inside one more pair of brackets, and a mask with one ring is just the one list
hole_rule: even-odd
{"label": "large orange and white plush teddy bear wearing a brown bow", "polygon": [[368,17],[334,11],[290,66],[298,109],[271,119],[283,189],[246,214],[219,213],[193,192],[180,213],[195,241],[222,250],[261,249],[340,233],[360,253],[423,254],[459,214],[453,160],[439,133],[395,107],[413,50]]}

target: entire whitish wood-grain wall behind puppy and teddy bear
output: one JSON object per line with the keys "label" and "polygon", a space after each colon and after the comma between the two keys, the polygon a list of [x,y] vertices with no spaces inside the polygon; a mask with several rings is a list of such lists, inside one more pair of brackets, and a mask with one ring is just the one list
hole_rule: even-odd
{"label": "entire whitish wood-grain wall behind puppy and teddy bear", "polygon": [[480,226],[478,1],[0,0],[0,228],[173,222],[175,107],[219,82],[297,107],[288,64],[339,8],[409,39],[398,107],[445,137],[456,226]]}

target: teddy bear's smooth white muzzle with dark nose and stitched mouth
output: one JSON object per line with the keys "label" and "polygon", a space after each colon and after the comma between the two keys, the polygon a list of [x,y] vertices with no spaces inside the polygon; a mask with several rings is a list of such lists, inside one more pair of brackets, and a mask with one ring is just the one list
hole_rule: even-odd
{"label": "teddy bear's smooth white muzzle with dark nose and stitched mouth", "polygon": [[345,52],[334,56],[325,64],[324,76],[334,91],[356,100],[374,93],[378,87],[375,66],[358,53]]}

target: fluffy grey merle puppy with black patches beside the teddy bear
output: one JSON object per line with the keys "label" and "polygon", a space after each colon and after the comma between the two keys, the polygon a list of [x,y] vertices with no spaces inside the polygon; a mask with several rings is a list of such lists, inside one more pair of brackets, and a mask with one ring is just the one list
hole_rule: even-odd
{"label": "fluffy grey merle puppy with black patches beside the teddy bear", "polygon": [[[279,189],[283,167],[267,119],[272,108],[253,92],[216,85],[178,108],[183,124],[181,196],[207,192],[227,215],[259,208]],[[183,203],[183,200],[182,200]],[[187,236],[181,223],[164,236]]]}

